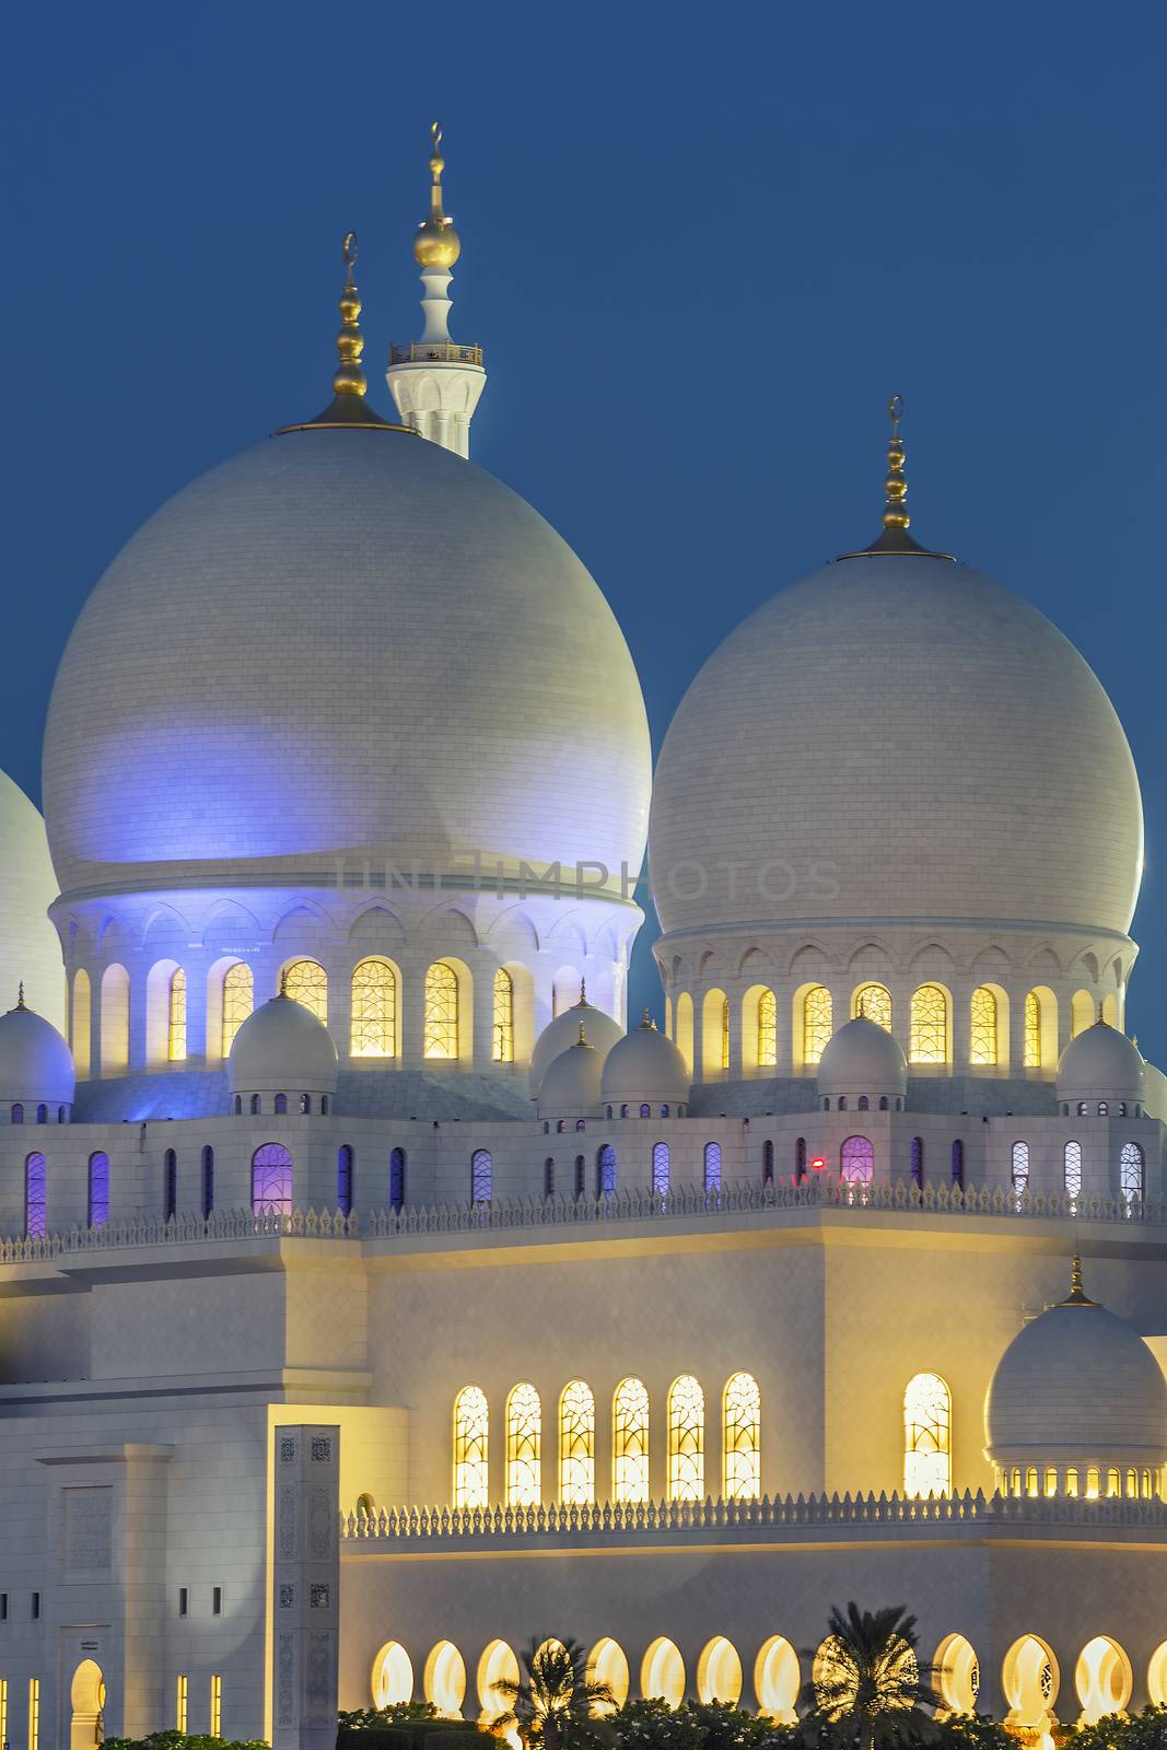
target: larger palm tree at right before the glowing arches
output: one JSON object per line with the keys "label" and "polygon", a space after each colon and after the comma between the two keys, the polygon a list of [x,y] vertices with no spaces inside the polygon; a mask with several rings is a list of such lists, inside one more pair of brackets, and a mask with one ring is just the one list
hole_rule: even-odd
{"label": "larger palm tree at right before the glowing arches", "polygon": [[877,1750],[927,1743],[933,1666],[922,1664],[915,1617],[903,1605],[887,1610],[831,1610],[819,1664],[803,1690],[807,1724],[824,1750]]}

